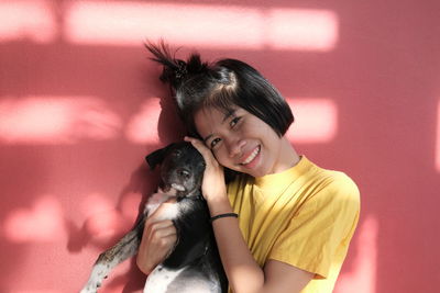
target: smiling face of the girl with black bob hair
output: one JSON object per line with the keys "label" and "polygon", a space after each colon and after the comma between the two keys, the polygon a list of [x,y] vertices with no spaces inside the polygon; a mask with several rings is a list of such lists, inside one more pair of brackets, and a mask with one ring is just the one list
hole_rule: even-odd
{"label": "smiling face of the girl with black bob hair", "polygon": [[280,171],[282,138],[265,122],[235,106],[229,113],[204,108],[195,115],[198,133],[222,166],[253,177]]}

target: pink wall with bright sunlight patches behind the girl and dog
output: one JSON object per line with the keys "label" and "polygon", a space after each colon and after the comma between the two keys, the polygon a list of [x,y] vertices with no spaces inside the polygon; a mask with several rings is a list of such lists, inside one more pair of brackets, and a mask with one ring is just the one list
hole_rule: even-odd
{"label": "pink wall with bright sunlight patches behind the girl and dog", "polygon": [[[418,2],[418,3],[416,3]],[[426,1],[0,2],[0,292],[76,292],[182,137],[145,37],[258,68],[289,137],[362,191],[336,292],[438,292],[440,4]],[[140,292],[127,262],[101,292]]]}

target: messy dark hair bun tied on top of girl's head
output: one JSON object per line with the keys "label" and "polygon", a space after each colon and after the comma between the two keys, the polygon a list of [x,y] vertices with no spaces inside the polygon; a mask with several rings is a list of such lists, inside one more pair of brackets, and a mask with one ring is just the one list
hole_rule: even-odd
{"label": "messy dark hair bun tied on top of girl's head", "polygon": [[208,64],[201,63],[199,54],[193,54],[187,61],[184,61],[172,56],[168,45],[163,41],[158,45],[147,42],[145,47],[154,56],[151,59],[164,66],[160,79],[169,83],[175,92],[186,79],[208,70]]}

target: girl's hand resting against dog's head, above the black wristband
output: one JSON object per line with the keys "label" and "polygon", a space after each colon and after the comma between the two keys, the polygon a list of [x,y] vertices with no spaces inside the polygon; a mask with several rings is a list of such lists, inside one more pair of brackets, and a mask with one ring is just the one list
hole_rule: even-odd
{"label": "girl's hand resting against dog's head, above the black wristband", "polygon": [[212,151],[201,140],[188,136],[185,137],[185,140],[191,143],[205,159],[206,168],[204,182],[201,184],[201,193],[205,200],[210,202],[226,198],[227,187],[223,167],[217,161]]}

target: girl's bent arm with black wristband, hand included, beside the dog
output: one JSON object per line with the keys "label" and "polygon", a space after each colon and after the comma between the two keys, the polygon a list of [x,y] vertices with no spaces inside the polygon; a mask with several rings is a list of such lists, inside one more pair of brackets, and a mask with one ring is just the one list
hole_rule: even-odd
{"label": "girl's bent arm with black wristband, hand included, beside the dog", "polygon": [[[231,213],[227,196],[223,170],[211,151],[198,139],[186,138],[200,151],[207,164],[202,193],[211,216]],[[235,293],[299,292],[314,277],[290,264],[270,260],[264,269],[255,262],[234,217],[222,217],[212,222],[221,261],[229,285]]]}

